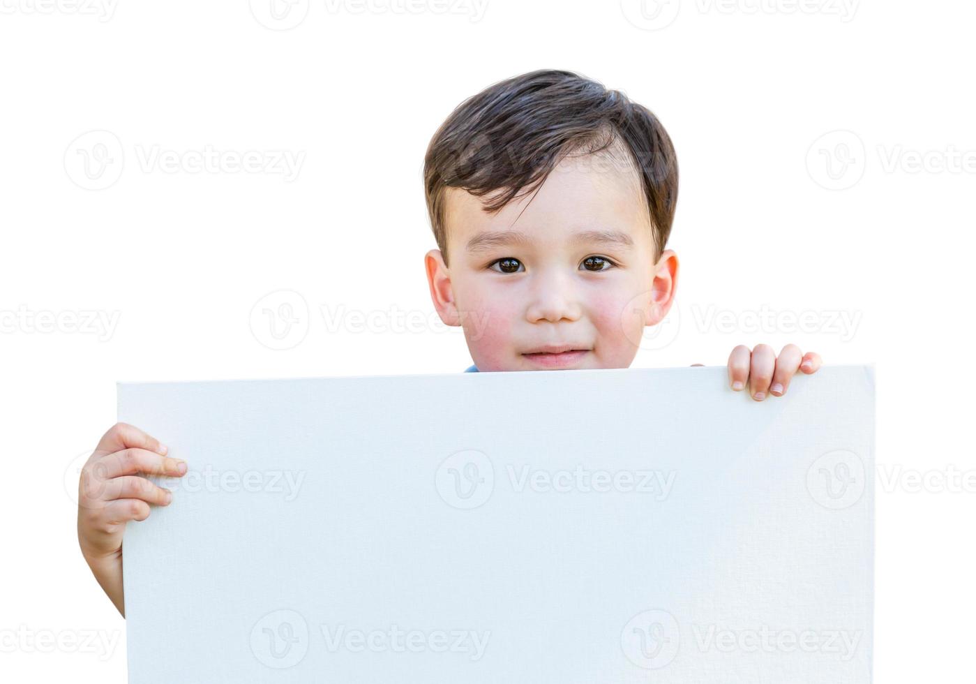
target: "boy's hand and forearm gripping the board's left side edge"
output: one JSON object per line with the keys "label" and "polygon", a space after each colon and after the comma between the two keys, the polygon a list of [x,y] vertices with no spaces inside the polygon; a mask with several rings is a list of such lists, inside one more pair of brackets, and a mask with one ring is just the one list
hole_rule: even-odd
{"label": "boy's hand and forearm gripping the board's left side edge", "polygon": [[78,543],[95,579],[122,616],[122,535],[130,520],[145,520],[149,504],[167,505],[170,490],[143,475],[181,477],[186,463],[166,458],[159,440],[118,422],[102,436],[78,480]]}

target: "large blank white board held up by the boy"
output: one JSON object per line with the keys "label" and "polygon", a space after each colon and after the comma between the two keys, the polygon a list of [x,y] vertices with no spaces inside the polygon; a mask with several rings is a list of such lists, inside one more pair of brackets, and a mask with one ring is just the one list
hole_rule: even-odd
{"label": "large blank white board held up by the boy", "polygon": [[119,385],[130,682],[866,683],[874,370]]}

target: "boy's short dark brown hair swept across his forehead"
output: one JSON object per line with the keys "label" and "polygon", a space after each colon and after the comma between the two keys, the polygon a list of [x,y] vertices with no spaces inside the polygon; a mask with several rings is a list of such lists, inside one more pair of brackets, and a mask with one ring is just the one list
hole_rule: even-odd
{"label": "boy's short dark brown hair swept across his forehead", "polygon": [[492,195],[482,203],[496,213],[541,187],[566,155],[621,142],[641,176],[660,255],[677,202],[677,157],[647,108],[572,71],[553,69],[509,78],[462,102],[437,129],[424,160],[427,213],[445,263],[446,188]]}

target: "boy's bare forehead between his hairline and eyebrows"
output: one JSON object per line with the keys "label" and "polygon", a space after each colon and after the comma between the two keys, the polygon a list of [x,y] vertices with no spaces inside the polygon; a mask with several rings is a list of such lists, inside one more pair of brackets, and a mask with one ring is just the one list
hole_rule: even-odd
{"label": "boy's bare forehead between his hairline and eyebrows", "polygon": [[[608,154],[564,158],[537,191],[510,201],[496,214],[484,211],[484,200],[502,190],[476,197],[459,187],[444,196],[444,221],[451,252],[463,251],[468,240],[485,231],[548,231],[580,226],[626,231],[636,244],[650,239],[650,219],[639,176],[628,160]],[[524,192],[524,189],[521,191]]]}

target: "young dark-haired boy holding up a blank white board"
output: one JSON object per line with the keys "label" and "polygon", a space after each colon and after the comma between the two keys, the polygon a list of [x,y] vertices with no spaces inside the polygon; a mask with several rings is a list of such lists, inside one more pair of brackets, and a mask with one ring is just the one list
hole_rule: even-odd
{"label": "young dark-haired boy holding up a blank white board", "polygon": [[[678,261],[665,249],[677,161],[657,118],[569,71],[541,70],[463,102],[434,134],[424,173],[438,249],[430,296],[462,326],[468,371],[627,368],[645,326],[671,308]],[[788,344],[737,346],[734,390],[787,391],[820,357]],[[132,425],[109,429],[79,482],[78,540],[122,615],[122,536],[169,491],[142,475],[186,463]]]}

